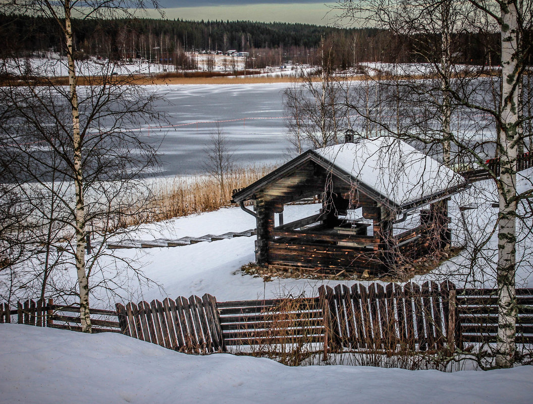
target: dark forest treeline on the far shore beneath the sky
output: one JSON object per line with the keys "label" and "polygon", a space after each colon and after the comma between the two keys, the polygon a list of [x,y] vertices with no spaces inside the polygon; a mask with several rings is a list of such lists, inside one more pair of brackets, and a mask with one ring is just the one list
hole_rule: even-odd
{"label": "dark forest treeline on the far shore beneath the sky", "polygon": [[[249,52],[249,67],[294,63],[319,64],[321,47],[335,67],[349,68],[359,62],[424,62],[419,49],[405,38],[373,28],[338,29],[294,23],[251,21],[183,21],[160,19],[76,21],[75,48],[83,55],[111,59],[143,57],[154,62],[173,63],[183,68],[195,64],[188,51]],[[4,51],[54,51],[61,53],[62,36],[56,24],[45,18],[0,14],[0,47]],[[455,38],[458,63],[486,64],[499,60],[489,50],[497,37],[463,34]],[[417,41],[417,46],[421,41]],[[494,48],[497,48],[495,46]],[[323,51],[323,49],[322,49]],[[191,65],[189,65],[191,64]]]}

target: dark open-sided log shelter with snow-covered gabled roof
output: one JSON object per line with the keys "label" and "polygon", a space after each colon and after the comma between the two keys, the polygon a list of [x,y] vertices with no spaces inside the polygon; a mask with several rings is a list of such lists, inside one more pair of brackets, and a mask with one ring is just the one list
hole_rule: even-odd
{"label": "dark open-sided log shelter with snow-covered gabled roof", "polygon": [[[232,201],[256,217],[259,265],[381,275],[450,242],[448,200],[466,186],[409,144],[379,137],[309,150]],[[283,223],[285,204],[315,195],[316,215]]]}

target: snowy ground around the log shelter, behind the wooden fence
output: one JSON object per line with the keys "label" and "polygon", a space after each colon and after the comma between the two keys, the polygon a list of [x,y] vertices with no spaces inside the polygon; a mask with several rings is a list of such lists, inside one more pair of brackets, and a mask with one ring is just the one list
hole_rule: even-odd
{"label": "snowy ground around the log shelter, behind the wooden fence", "polygon": [[[519,191],[533,188],[532,169],[523,172],[519,180]],[[442,282],[450,279],[458,286],[492,287],[495,285],[497,236],[492,235],[486,245],[478,247],[487,237],[495,224],[496,201],[494,183],[483,181],[453,197],[450,202],[449,215],[452,218],[453,241],[455,245],[466,245],[457,256],[443,263],[432,273],[418,275],[414,282],[432,279]],[[460,211],[459,206],[472,205],[472,210]],[[311,216],[318,212],[319,204],[287,205],[284,211],[285,222]],[[399,226],[416,226],[416,218],[411,224]],[[277,218],[277,215],[276,215]],[[526,219],[531,222],[531,218]],[[466,227],[465,224],[466,223]],[[201,213],[188,217],[176,218],[158,224],[148,225],[138,230],[133,237],[137,240],[155,240],[156,238],[175,239],[185,236],[200,237],[207,234],[223,234],[226,232],[242,232],[255,227],[255,218],[240,208],[225,208],[214,212]],[[201,242],[174,248],[113,250],[109,255],[98,260],[102,273],[94,270],[92,282],[94,307],[107,307],[115,301],[140,301],[164,299],[166,296],[190,296],[209,293],[217,300],[245,300],[272,298],[278,296],[318,295],[318,287],[322,284],[336,285],[344,283],[348,286],[356,281],[322,281],[321,279],[294,279],[273,277],[271,282],[263,282],[261,277],[243,275],[240,267],[255,261],[255,236],[238,237],[211,243]],[[94,241],[93,241],[94,243]],[[526,238],[519,237],[517,253],[519,266],[516,274],[517,285],[531,287],[533,285],[533,240],[529,234]],[[152,283],[143,282],[129,271],[126,275],[128,262],[141,269],[144,276]],[[112,286],[118,296],[109,296],[109,292],[99,286],[102,276],[110,277],[119,274]],[[6,294],[10,279],[0,277],[0,288]],[[60,272],[61,282],[75,284],[74,271]],[[3,283],[2,283],[3,281]],[[20,279],[23,283],[23,278]],[[364,282],[368,284],[369,282]],[[34,297],[31,286],[26,285],[18,291],[20,298]]]}

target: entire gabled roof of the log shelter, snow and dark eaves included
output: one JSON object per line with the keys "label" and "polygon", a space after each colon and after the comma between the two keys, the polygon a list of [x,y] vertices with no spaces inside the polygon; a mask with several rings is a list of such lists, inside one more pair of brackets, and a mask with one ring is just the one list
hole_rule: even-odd
{"label": "entire gabled roof of the log shelter, snow and dark eaves included", "polygon": [[233,200],[249,199],[263,186],[308,160],[396,210],[442,199],[467,185],[461,175],[406,142],[376,137],[309,150],[237,192]]}

